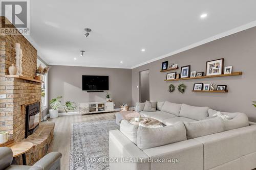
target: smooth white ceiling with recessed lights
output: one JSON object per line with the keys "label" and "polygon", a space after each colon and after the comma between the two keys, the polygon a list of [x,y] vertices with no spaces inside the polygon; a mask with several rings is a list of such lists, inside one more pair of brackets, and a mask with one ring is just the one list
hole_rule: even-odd
{"label": "smooth white ceiling with recessed lights", "polygon": [[[30,3],[28,38],[38,55],[53,65],[134,68],[256,26],[255,0],[33,0]],[[202,19],[202,13],[208,16]],[[240,28],[234,29],[237,27]],[[84,28],[92,29],[87,38],[83,36]],[[227,32],[232,29],[233,32]],[[141,52],[142,48],[146,51]],[[86,51],[83,57],[80,50]]]}

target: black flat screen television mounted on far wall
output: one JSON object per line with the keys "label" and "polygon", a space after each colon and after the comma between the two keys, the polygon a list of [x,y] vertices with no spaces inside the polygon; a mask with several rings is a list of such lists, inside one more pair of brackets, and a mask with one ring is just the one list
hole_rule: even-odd
{"label": "black flat screen television mounted on far wall", "polygon": [[82,90],[109,90],[109,76],[82,76]]}

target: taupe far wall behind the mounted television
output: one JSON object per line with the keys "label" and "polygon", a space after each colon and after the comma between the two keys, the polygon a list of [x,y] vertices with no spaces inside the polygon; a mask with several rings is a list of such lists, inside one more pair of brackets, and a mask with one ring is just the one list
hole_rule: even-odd
{"label": "taupe far wall behind the mounted television", "polygon": [[82,91],[82,75],[109,76],[108,91],[114,101],[115,108],[123,103],[132,106],[132,70],[119,68],[96,68],[51,65],[48,76],[50,99],[63,96],[62,102],[102,102],[106,101],[104,92]]}

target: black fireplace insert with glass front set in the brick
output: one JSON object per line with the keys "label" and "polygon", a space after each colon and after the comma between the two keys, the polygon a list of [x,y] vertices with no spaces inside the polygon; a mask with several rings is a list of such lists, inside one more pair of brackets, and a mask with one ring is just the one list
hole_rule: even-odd
{"label": "black fireplace insert with glass front set in the brick", "polygon": [[28,138],[29,135],[33,134],[38,126],[40,121],[40,102],[28,105],[26,107],[26,124],[25,124],[25,138]]}

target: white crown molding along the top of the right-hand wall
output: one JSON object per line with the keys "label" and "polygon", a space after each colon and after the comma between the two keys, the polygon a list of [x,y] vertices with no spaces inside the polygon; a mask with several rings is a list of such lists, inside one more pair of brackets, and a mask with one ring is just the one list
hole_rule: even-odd
{"label": "white crown molding along the top of the right-hand wall", "polygon": [[185,47],[183,47],[183,48],[180,48],[179,50],[176,50],[176,51],[174,51],[174,52],[171,52],[171,53],[165,54],[165,55],[163,55],[163,56],[160,56],[160,57],[157,57],[157,58],[148,60],[148,61],[143,62],[143,63],[140,63],[140,64],[138,64],[138,65],[135,65],[135,66],[131,67],[131,68],[134,69],[134,68],[136,68],[136,67],[139,67],[139,66],[142,66],[142,65],[145,65],[145,64],[148,64],[148,63],[151,63],[151,62],[154,62],[154,61],[163,59],[163,58],[165,58],[165,57],[173,56],[173,55],[175,55],[175,54],[184,52],[184,51],[189,50],[189,49],[191,49],[191,48],[194,48],[194,47],[196,47],[196,46],[199,46],[199,45],[202,45],[202,44],[205,44],[205,43],[208,43],[208,42],[211,42],[211,41],[214,41],[214,40],[217,40],[217,39],[226,37],[226,36],[229,36],[229,35],[231,35],[231,34],[235,34],[235,33],[238,33],[238,32],[244,31],[244,30],[247,30],[247,29],[252,28],[252,27],[255,27],[255,26],[256,26],[256,21],[249,22],[249,23],[247,23],[247,24],[245,24],[245,25],[243,25],[243,26],[234,28],[234,29],[232,29],[232,30],[226,31],[226,32],[221,33],[221,34],[217,34],[217,35],[212,36],[212,37],[209,37],[209,38],[206,38],[206,39],[204,39],[204,40],[202,40],[202,41],[199,41],[199,42],[196,42],[196,43],[194,43],[194,44],[191,44],[191,45],[185,46]]}

